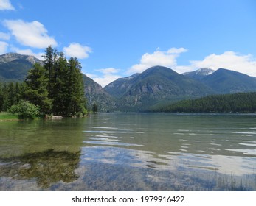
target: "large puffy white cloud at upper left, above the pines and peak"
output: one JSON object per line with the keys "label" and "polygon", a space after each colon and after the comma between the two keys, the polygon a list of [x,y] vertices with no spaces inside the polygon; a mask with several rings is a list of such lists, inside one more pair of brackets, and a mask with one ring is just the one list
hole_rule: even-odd
{"label": "large puffy white cloud at upper left, above the pines and peak", "polygon": [[40,49],[49,45],[57,46],[55,39],[47,34],[46,28],[39,21],[5,20],[4,25],[15,36],[18,43],[24,46]]}

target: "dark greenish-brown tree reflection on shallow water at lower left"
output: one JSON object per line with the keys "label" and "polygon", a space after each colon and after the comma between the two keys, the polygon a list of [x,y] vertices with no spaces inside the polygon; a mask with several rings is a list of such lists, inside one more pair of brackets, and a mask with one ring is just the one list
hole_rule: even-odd
{"label": "dark greenish-brown tree reflection on shallow water at lower left", "polygon": [[80,152],[56,152],[49,149],[44,152],[27,153],[0,159],[0,176],[17,180],[35,179],[38,187],[49,188],[52,183],[77,180],[75,169],[79,160]]}

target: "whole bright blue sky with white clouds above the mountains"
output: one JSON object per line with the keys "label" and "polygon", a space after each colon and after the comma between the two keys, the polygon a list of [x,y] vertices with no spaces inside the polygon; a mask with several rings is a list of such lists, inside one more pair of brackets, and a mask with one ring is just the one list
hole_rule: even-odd
{"label": "whole bright blue sky with white clouds above the mountains", "polygon": [[256,1],[0,0],[0,55],[49,45],[103,87],[154,65],[256,77]]}

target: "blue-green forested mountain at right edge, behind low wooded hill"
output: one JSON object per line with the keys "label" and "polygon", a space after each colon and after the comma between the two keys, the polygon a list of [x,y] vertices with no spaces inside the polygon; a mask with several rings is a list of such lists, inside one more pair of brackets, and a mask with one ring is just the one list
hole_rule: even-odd
{"label": "blue-green forested mountain at right edge, behind low wooded hill", "polygon": [[200,79],[217,93],[238,93],[256,91],[255,77],[237,71],[219,68],[214,73]]}

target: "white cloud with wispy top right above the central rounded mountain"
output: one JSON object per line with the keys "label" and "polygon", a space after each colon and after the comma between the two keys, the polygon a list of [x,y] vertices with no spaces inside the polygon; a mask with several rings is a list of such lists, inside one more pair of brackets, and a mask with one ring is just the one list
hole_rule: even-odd
{"label": "white cloud with wispy top right above the central rounded mountain", "polygon": [[128,74],[141,73],[142,71],[145,71],[145,69],[155,65],[174,68],[177,65],[176,58],[183,52],[187,52],[187,49],[171,48],[167,51],[159,51],[159,49],[156,49],[153,54],[143,54],[139,64],[133,65],[128,70]]}

